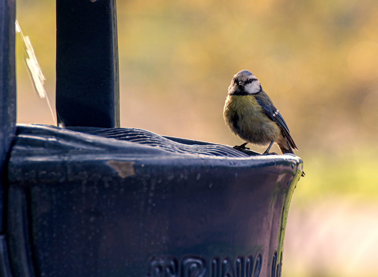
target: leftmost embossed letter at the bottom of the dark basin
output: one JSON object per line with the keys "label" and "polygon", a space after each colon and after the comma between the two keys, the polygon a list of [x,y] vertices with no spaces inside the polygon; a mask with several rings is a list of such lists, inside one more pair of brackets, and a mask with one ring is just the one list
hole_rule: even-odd
{"label": "leftmost embossed letter at the bottom of the dark basin", "polygon": [[147,277],[177,277],[177,258],[169,255],[154,256],[149,259]]}

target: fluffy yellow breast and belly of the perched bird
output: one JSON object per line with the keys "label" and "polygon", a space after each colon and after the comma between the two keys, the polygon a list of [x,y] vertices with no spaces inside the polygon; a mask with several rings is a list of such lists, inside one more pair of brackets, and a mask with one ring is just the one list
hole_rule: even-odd
{"label": "fluffy yellow breast and belly of the perched bird", "polygon": [[277,124],[265,115],[253,95],[229,95],[223,117],[231,131],[246,142],[266,145],[280,135]]}

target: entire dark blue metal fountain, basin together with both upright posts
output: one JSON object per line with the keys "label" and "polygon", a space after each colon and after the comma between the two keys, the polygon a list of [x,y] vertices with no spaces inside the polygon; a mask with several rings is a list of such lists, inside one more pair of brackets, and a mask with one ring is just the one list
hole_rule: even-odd
{"label": "entire dark blue metal fountain, basin together with both upright posts", "polygon": [[299,157],[119,128],[113,0],[56,1],[64,127],[15,125],[14,1],[0,14],[3,276],[280,276]]}

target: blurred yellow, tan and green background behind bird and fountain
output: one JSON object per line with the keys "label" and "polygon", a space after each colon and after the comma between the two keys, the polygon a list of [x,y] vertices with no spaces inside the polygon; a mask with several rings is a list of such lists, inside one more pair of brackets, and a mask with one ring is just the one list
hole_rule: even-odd
{"label": "blurred yellow, tan and green background behind bird and fountain", "polygon": [[[377,276],[378,2],[118,0],[117,13],[121,127],[240,144],[223,105],[232,76],[250,70],[306,172],[291,202],[283,276]],[[17,0],[17,19],[54,107],[55,1]],[[19,35],[16,50],[17,122],[54,124]]]}

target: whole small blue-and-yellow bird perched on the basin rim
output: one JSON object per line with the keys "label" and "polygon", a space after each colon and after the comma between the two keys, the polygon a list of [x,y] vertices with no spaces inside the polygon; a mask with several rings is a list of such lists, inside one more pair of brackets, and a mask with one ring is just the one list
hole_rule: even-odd
{"label": "whole small blue-and-yellow bird perched on the basin rim", "polygon": [[259,80],[248,70],[234,75],[228,87],[223,117],[231,131],[245,141],[235,145],[234,149],[249,149],[245,147],[247,143],[269,145],[262,155],[276,155],[269,153],[273,143],[276,143],[282,154],[294,154],[293,149],[298,150],[285,120]]}

